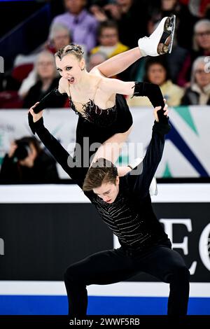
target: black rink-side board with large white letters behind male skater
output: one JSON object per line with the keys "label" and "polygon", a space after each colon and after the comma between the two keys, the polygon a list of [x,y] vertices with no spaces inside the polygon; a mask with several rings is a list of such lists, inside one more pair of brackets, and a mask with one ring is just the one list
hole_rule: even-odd
{"label": "black rink-side board with large white letters behind male skater", "polygon": [[[157,203],[154,209],[158,218],[190,218],[192,232],[186,225],[173,225],[173,241],[181,243],[188,237],[188,255],[176,250],[189,268],[197,261],[191,281],[209,282],[199,242],[209,224],[210,204]],[[4,242],[1,280],[62,280],[66,267],[73,262],[113,248],[113,234],[91,204],[0,204],[0,217],[0,238]],[[139,274],[129,281],[155,278]]]}

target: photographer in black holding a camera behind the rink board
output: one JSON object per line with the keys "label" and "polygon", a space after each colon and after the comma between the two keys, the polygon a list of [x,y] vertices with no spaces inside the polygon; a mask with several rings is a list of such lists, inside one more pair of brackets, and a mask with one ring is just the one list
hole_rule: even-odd
{"label": "photographer in black holding a camera behind the rink board", "polygon": [[35,137],[13,141],[3,158],[1,184],[57,183],[55,160],[45,153]]}

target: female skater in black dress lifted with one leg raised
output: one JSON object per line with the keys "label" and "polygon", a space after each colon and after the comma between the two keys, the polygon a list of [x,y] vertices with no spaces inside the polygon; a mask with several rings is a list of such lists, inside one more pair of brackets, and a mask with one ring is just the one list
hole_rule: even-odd
{"label": "female skater in black dress lifted with one leg raised", "polygon": [[[76,167],[89,167],[98,158],[106,158],[115,163],[132,127],[132,115],[123,95],[147,96],[153,106],[165,106],[160,87],[150,83],[124,82],[111,79],[127,69],[137,59],[157,56],[172,51],[175,17],[163,18],[150,37],[139,39],[139,48],[116,55],[94,67],[89,73],[85,70],[83,50],[79,45],[66,45],[55,54],[57,69],[62,76],[58,90],[53,90],[40,103],[31,109],[38,113],[48,106],[48,99],[68,94],[73,111],[78,114],[76,145],[80,145],[80,159],[74,155]],[[33,130],[33,118],[29,113],[29,123]],[[89,146],[102,144],[98,149],[88,150],[88,163],[84,164],[84,137],[89,138]],[[95,153],[95,151],[97,152]],[[85,158],[87,158],[85,156]],[[79,160],[78,160],[79,159]],[[120,167],[118,174],[123,176],[131,168]],[[121,171],[121,172],[120,172]]]}

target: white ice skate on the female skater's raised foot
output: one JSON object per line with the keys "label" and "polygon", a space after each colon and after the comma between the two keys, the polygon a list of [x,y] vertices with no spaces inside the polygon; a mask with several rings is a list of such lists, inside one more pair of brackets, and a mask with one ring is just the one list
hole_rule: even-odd
{"label": "white ice skate on the female skater's raised foot", "polygon": [[162,18],[151,36],[139,38],[138,45],[142,56],[158,56],[172,52],[176,16]]}

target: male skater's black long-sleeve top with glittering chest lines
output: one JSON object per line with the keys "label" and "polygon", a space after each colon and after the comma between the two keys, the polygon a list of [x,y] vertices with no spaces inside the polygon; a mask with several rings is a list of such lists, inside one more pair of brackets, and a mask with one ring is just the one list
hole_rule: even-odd
{"label": "male skater's black long-sleeve top with glittering chest lines", "polygon": [[[44,127],[43,118],[34,127],[55,160],[82,188],[88,168],[69,167],[71,156]],[[153,212],[149,194],[151,181],[162,158],[167,132],[168,123],[154,123],[151,143],[143,162],[129,174],[120,177],[119,193],[112,204],[104,202],[93,191],[85,192],[103,221],[118,237],[120,244],[132,251],[144,251],[153,244],[167,240],[167,235]]]}

